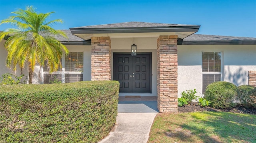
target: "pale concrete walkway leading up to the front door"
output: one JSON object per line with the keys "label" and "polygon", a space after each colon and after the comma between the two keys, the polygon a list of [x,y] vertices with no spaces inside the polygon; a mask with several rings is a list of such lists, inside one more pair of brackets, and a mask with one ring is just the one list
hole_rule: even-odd
{"label": "pale concrete walkway leading up to the front door", "polygon": [[119,99],[116,127],[99,143],[147,143],[157,102],[146,97],[128,100],[133,99]]}

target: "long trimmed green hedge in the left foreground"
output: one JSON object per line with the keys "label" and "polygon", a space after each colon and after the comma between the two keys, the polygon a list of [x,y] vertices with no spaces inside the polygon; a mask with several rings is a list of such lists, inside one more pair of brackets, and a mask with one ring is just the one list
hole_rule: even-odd
{"label": "long trimmed green hedge in the left foreground", "polygon": [[119,82],[0,86],[0,142],[90,142],[116,122]]}

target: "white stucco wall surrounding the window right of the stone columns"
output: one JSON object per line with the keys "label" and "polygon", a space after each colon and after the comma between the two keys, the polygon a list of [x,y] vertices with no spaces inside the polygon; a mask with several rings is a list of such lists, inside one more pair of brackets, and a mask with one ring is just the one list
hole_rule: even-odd
{"label": "white stucco wall surrounding the window right of the stone columns", "polygon": [[248,84],[248,71],[256,70],[255,45],[178,45],[179,97],[194,88],[202,95],[202,51],[222,52],[222,81]]}

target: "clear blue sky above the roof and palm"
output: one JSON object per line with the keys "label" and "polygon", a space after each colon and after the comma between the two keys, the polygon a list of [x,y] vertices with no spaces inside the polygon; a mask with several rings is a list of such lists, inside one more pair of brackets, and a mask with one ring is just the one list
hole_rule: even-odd
{"label": "clear blue sky above the roof and palm", "polygon": [[[256,37],[256,0],[0,0],[0,20],[33,5],[55,29],[120,22],[201,25],[198,34]],[[10,25],[0,25],[4,30]]]}

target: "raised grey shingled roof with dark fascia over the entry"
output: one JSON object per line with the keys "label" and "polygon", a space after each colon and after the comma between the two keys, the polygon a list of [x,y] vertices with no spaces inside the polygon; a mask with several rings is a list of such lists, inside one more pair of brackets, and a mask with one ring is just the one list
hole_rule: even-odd
{"label": "raised grey shingled roof with dark fascia over the entry", "polygon": [[149,22],[124,22],[116,24],[91,25],[70,28],[72,34],[96,33],[149,33],[149,32],[191,32],[195,33],[200,25],[159,24]]}

